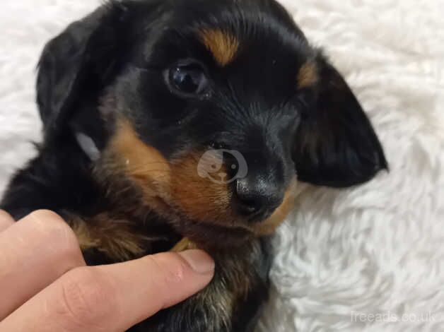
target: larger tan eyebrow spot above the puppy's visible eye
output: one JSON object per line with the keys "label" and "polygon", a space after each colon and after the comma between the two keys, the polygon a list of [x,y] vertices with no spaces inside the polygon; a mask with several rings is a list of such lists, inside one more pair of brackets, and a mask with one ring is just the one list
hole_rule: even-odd
{"label": "larger tan eyebrow spot above the puppy's visible eye", "polygon": [[239,49],[239,40],[222,30],[203,30],[201,41],[221,66],[230,64]]}

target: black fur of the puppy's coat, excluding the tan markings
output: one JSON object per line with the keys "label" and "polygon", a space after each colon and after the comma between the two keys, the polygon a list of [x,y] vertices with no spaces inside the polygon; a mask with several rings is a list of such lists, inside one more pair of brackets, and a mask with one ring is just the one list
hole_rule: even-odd
{"label": "black fur of the puppy's coat, excluding the tan markings", "polygon": [[[230,64],[216,64],[198,40],[205,29],[238,40]],[[165,84],[165,69],[183,59],[204,66],[211,82],[206,95],[183,97]],[[307,61],[319,78],[298,88],[298,71]],[[167,160],[214,142],[239,150],[251,174],[279,192],[295,173],[300,181],[344,187],[387,168],[344,79],[274,0],[111,1],[45,47],[37,101],[45,140],[38,157],[12,179],[1,208],[16,219],[41,208],[85,220],[104,211],[124,215],[135,232],[153,238],[144,254],[168,250],[187,234],[142,208],[139,191],[121,193],[117,204],[98,180],[96,156],[76,137],[91,138],[102,152],[115,134],[116,114],[132,119],[141,140]],[[84,254],[90,264],[114,261],[100,249]],[[131,331],[252,331],[267,299],[269,239],[212,254],[216,277],[207,290]],[[233,275],[239,274],[250,285],[246,293],[237,294]],[[225,296],[233,299],[228,312],[211,309]]]}

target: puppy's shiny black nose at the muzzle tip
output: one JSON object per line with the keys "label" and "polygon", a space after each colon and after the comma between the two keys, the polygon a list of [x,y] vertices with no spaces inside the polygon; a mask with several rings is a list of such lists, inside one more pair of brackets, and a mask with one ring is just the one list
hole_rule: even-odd
{"label": "puppy's shiny black nose at the muzzle tip", "polygon": [[236,179],[233,207],[252,223],[268,218],[278,208],[284,193],[276,184],[261,177]]}

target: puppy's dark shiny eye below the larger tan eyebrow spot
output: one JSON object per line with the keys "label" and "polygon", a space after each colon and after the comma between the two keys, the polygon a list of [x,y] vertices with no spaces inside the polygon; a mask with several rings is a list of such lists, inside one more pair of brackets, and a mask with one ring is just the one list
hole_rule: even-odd
{"label": "puppy's dark shiny eye below the larger tan eyebrow spot", "polygon": [[192,96],[204,93],[208,88],[208,79],[200,64],[177,64],[168,71],[168,83],[176,92]]}

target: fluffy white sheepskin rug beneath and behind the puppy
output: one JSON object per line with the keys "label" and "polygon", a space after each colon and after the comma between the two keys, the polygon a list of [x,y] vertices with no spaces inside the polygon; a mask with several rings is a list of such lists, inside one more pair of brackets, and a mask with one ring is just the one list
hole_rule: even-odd
{"label": "fluffy white sheepskin rug beneath and behind the puppy", "polygon": [[[283,3],[356,91],[391,170],[354,189],[300,186],[259,331],[444,331],[444,1]],[[97,4],[2,1],[0,194],[40,140],[43,45]]]}

